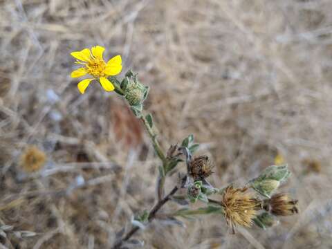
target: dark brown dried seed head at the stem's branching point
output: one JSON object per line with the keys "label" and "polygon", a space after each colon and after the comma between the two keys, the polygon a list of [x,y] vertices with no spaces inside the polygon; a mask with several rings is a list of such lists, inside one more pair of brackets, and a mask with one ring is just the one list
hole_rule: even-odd
{"label": "dark brown dried seed head at the stem's branching point", "polygon": [[210,176],[213,173],[212,168],[208,156],[198,156],[190,161],[188,173],[194,178],[194,181],[199,181]]}

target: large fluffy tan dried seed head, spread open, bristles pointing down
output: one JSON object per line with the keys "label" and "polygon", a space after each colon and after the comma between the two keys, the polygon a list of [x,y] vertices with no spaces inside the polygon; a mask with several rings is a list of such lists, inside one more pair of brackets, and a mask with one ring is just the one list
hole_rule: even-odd
{"label": "large fluffy tan dried seed head, spread open, bristles pointing down", "polygon": [[236,189],[232,186],[227,187],[223,192],[221,206],[224,208],[224,216],[228,226],[234,228],[237,225],[250,227],[252,219],[255,218],[260,209],[261,201],[253,194],[246,193],[247,188]]}

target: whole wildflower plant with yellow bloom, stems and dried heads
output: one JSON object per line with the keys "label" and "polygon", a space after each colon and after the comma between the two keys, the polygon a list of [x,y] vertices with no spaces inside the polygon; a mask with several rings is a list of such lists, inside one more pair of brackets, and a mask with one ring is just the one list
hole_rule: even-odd
{"label": "whole wildflower plant with yellow bloom, stems and dried heads", "polygon": [[[71,77],[91,75],[77,85],[82,94],[91,81],[98,80],[105,91],[114,91],[122,97],[136,118],[142,121],[160,159],[156,203],[151,210],[136,214],[131,221],[131,228],[123,228],[116,234],[113,248],[142,246],[142,242],[131,237],[154,219],[181,223],[177,217],[216,214],[225,219],[234,233],[237,226],[251,227],[254,223],[263,229],[272,227],[279,222],[277,216],[292,215],[299,211],[297,200],[291,199],[289,194],[275,193],[291,176],[287,165],[278,163],[267,167],[244,186],[228,185],[220,188],[208,182],[207,178],[213,174],[213,164],[208,156],[195,154],[199,144],[194,142],[193,135],[171,145],[165,151],[158,142],[153,117],[151,113],[145,113],[143,106],[149,94],[149,86],[142,84],[137,74],[131,70],[127,71],[122,79],[116,77],[122,70],[120,55],[105,62],[103,53],[102,46],[71,53],[77,59],[75,63],[83,66],[73,71]],[[185,173],[179,174],[178,183],[165,194],[166,179],[174,176],[172,173],[176,168],[180,169],[183,166]],[[179,207],[178,210],[169,213],[160,213],[160,209],[169,201],[185,205],[185,208]],[[203,208],[193,208],[193,203],[198,201],[203,203]]]}

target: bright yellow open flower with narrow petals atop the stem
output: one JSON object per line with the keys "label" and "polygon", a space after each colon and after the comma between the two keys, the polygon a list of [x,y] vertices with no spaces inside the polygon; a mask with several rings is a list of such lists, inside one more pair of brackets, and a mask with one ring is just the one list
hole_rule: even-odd
{"label": "bright yellow open flower with narrow petals atop the stem", "polygon": [[104,50],[105,48],[102,46],[93,46],[91,50],[84,48],[83,50],[71,53],[71,55],[77,59],[75,63],[84,66],[71,72],[71,77],[82,77],[86,74],[93,76],[93,78],[82,80],[77,84],[80,93],[83,94],[85,92],[86,87],[89,86],[92,80],[99,80],[105,91],[114,90],[113,84],[107,77],[117,75],[121,72],[122,59],[120,55],[116,55],[106,63],[102,58]]}

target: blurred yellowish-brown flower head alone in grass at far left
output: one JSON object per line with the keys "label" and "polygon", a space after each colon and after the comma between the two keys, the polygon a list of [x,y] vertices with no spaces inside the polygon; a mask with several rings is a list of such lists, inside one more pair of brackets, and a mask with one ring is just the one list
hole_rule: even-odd
{"label": "blurred yellowish-brown flower head alone in grass at far left", "polygon": [[25,172],[36,172],[42,169],[45,163],[46,154],[34,145],[27,147],[21,155],[20,164]]}

